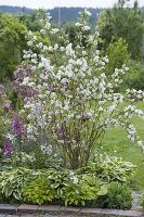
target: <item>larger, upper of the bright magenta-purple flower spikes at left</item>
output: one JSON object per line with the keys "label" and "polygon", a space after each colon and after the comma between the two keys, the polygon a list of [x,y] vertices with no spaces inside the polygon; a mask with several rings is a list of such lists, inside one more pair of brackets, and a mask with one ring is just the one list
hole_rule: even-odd
{"label": "larger, upper of the bright magenta-purple flower spikes at left", "polygon": [[14,136],[16,138],[24,135],[24,124],[19,120],[19,117],[17,114],[14,115],[14,118],[12,120],[12,127],[13,127]]}

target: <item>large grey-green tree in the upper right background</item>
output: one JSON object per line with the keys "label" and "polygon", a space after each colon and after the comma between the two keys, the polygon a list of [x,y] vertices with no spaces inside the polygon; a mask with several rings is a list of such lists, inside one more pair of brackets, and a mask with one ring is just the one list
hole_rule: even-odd
{"label": "large grey-green tree in the upper right background", "polygon": [[136,4],[126,7],[126,1],[118,1],[113,9],[107,9],[99,18],[100,35],[107,48],[112,38],[122,38],[128,43],[132,59],[140,59],[142,53],[142,35],[144,31],[143,13]]}

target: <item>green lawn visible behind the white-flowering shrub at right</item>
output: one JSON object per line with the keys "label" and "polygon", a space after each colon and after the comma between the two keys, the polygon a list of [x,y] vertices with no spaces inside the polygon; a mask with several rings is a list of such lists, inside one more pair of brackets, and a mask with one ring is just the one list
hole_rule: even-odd
{"label": "green lawn visible behind the white-flowering shrub at right", "polygon": [[[144,111],[144,103],[138,103],[138,107]],[[144,141],[144,120],[134,117],[132,123],[138,130],[140,139]],[[136,189],[144,190],[144,155],[135,142],[130,142],[126,131],[121,128],[107,131],[104,138],[104,149],[110,155],[121,156],[125,161],[136,165],[134,183]]]}

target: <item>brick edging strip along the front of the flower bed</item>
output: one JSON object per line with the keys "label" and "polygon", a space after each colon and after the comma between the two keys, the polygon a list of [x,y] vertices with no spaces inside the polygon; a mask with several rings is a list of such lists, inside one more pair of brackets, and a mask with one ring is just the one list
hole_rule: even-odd
{"label": "brick edging strip along the front of the flower bed", "polygon": [[10,205],[10,204],[0,204],[0,214],[50,214],[57,216],[125,216],[125,217],[143,217],[143,210],[130,209],[130,210],[121,210],[121,209],[102,209],[102,208],[82,208],[82,207],[64,207],[60,205],[49,205],[49,206],[39,206],[39,205]]}

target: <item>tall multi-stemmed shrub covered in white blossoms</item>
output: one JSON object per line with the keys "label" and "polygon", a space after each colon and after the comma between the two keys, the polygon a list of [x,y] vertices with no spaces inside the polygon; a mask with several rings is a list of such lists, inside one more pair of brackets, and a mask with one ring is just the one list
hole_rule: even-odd
{"label": "tall multi-stemmed shrub covered in white blossoms", "polygon": [[[8,122],[9,133],[5,133],[12,143],[21,138],[22,146],[38,144],[48,157],[57,155],[73,169],[88,164],[110,127],[123,127],[128,138],[144,150],[130,124],[134,115],[144,118],[144,113],[133,105],[135,100],[144,99],[144,92],[116,91],[121,75],[129,68],[123,65],[110,76],[105,75],[108,59],[97,50],[99,33],[95,29],[91,34],[90,15],[87,10],[80,12],[76,23],[77,44],[70,43],[63,30],[52,28],[50,14],[43,16],[40,30],[50,39],[50,46],[39,42],[28,31],[29,50],[24,51],[25,61],[14,74],[15,91],[23,100],[23,107],[13,117],[13,130]],[[34,52],[37,49],[39,52]]]}

